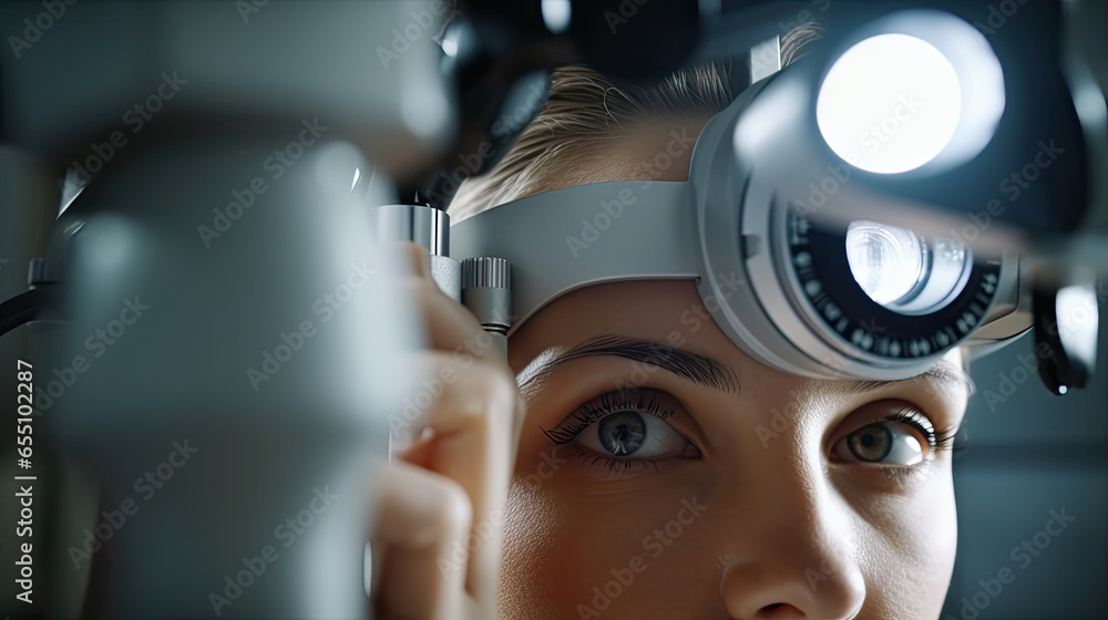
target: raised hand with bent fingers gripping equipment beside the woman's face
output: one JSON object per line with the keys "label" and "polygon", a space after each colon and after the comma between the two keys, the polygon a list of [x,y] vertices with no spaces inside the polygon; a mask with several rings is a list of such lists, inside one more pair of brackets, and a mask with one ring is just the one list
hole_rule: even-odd
{"label": "raised hand with bent fingers gripping equipment beside the woman's face", "polygon": [[427,250],[401,251],[430,345],[402,368],[417,373],[431,404],[418,420],[394,421],[411,440],[393,445],[379,486],[375,618],[490,620],[523,399],[492,339],[431,279]]}

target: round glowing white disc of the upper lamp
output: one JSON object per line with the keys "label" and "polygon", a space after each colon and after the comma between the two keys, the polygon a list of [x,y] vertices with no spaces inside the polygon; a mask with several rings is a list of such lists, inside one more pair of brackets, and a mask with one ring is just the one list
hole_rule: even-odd
{"label": "round glowing white disc of the upper lamp", "polygon": [[815,118],[837,155],[881,174],[931,162],[958,126],[962,87],[934,45],[879,34],[847,50],[820,87]]}

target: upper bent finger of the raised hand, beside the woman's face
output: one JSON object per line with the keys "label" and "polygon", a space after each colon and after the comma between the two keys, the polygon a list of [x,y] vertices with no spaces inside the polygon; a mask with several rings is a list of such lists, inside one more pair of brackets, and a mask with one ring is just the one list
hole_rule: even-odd
{"label": "upper bent finger of the raised hand, beside the woman's face", "polygon": [[[443,352],[414,354],[421,376],[432,378],[423,390],[441,390],[419,420],[400,420],[403,431],[428,426],[423,444],[400,458],[458,480],[473,506],[473,528],[463,547],[466,591],[495,603],[496,575],[504,520],[504,499],[515,462],[515,427],[523,400],[512,375],[499,365],[463,361]],[[431,394],[433,396],[433,394]],[[427,402],[416,394],[412,402]],[[408,410],[411,411],[411,410]],[[394,425],[396,427],[396,425]]]}

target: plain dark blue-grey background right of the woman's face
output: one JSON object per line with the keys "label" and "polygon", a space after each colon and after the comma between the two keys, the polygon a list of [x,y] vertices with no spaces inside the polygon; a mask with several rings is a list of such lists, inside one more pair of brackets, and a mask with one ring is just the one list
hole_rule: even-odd
{"label": "plain dark blue-grey background right of the woman's face", "polygon": [[[1108,288],[1098,299],[1100,323]],[[968,445],[954,461],[958,555],[942,620],[1108,618],[1108,345],[1101,330],[1100,368],[1092,385],[1055,396],[1033,372],[991,411],[985,393],[1001,394],[1001,376],[1024,376],[1016,360],[1033,354],[1029,334],[975,360],[977,394],[966,414]],[[1010,392],[1010,386],[1008,390]],[[1012,550],[1044,530],[1050,510],[1075,517],[1028,564]],[[1057,531],[1057,526],[1051,525]],[[1043,541],[1039,537],[1039,541]],[[1023,549],[1018,554],[1024,554]],[[1022,568],[1026,565],[1026,568]],[[997,574],[1015,579],[996,591]],[[985,592],[978,595],[978,592]],[[977,611],[964,601],[988,601]],[[987,599],[986,599],[987,597]],[[973,602],[971,600],[971,602]]]}

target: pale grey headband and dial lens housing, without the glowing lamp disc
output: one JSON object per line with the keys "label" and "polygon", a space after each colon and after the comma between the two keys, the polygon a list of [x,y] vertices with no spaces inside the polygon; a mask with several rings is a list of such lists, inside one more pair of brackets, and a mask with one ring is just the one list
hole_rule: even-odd
{"label": "pale grey headband and dial lens housing, without the glowing lamp disc", "polygon": [[[915,22],[894,16],[875,23],[871,30]],[[1029,316],[1016,312],[1015,255],[893,232],[912,229],[905,214],[921,221],[933,216],[926,203],[890,190],[895,175],[860,169],[829,146],[817,91],[831,65],[802,59],[747,89],[705,126],[687,183],[598,183],[515,200],[455,224],[456,256],[513,265],[513,331],[585,286],[694,280],[736,345],[771,368],[812,378],[906,379],[960,343],[1004,341],[1029,329]],[[902,174],[938,182],[950,157],[967,153],[943,149],[938,163]],[[881,183],[872,183],[876,176]],[[892,221],[872,215],[886,210]],[[927,231],[936,228],[926,224]],[[848,236],[856,249],[860,225],[902,241],[914,236],[921,246],[914,279],[892,299],[875,300],[856,278],[860,267],[851,267]]]}

